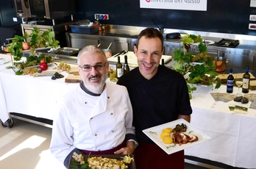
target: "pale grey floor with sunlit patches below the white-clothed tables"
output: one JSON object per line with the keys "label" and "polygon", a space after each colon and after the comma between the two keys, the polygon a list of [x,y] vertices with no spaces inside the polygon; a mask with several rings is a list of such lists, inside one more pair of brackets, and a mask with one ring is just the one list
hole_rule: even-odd
{"label": "pale grey floor with sunlit patches below the white-clothed tables", "polygon": [[[64,169],[49,152],[51,128],[14,119],[13,128],[0,126],[0,168]],[[204,169],[185,164],[185,169]]]}

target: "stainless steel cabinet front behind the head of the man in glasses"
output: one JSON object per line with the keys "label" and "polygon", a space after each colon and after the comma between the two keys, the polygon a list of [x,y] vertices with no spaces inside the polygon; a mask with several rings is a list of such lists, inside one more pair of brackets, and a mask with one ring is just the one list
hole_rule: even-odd
{"label": "stainless steel cabinet front behind the head of the man in glasses", "polygon": [[132,38],[127,37],[113,37],[113,36],[102,36],[102,35],[85,35],[75,34],[67,32],[67,46],[72,48],[83,48],[88,45],[98,45],[101,43],[101,48],[107,48],[110,46],[112,54],[117,54],[120,51],[133,51],[131,47]]}

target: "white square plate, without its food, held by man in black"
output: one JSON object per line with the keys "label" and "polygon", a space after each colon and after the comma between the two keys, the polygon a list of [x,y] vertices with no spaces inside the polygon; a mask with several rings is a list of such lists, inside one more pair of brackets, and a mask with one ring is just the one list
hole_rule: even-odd
{"label": "white square plate, without its food, held by man in black", "polygon": [[[196,135],[199,138],[199,140],[197,140],[193,143],[187,143],[187,144],[182,144],[182,145],[178,145],[178,144],[174,145],[174,143],[171,143],[171,144],[163,143],[163,140],[160,139],[160,134],[162,133],[162,130],[166,129],[168,127],[171,127],[172,129],[174,129],[177,124],[181,124],[181,123],[184,123],[187,126],[187,132],[185,132],[185,134]],[[166,151],[167,154],[173,154],[177,151],[184,150],[185,148],[189,148],[193,145],[197,145],[199,143],[203,143],[203,142],[211,139],[209,136],[207,136],[207,134],[204,134],[199,129],[196,129],[196,127],[194,127],[193,125],[191,125],[184,119],[178,119],[176,121],[164,123],[159,126],[151,127],[149,129],[144,129],[142,132],[145,133],[152,141],[154,141],[154,143],[156,143],[158,146],[160,146],[160,148],[162,148],[163,151]]]}

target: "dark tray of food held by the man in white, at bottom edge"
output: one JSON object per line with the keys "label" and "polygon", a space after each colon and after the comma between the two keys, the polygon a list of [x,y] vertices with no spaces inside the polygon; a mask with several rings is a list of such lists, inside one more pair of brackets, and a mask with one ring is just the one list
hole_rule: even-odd
{"label": "dark tray of food held by the man in white, at bottom edge", "polygon": [[69,162],[69,169],[110,168],[110,166],[112,166],[111,168],[136,168],[134,156],[124,154],[85,155],[74,153]]}

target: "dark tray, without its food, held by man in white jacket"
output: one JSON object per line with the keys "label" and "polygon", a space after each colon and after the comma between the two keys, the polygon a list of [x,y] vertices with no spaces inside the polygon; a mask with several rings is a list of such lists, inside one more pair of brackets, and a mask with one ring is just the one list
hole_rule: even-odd
{"label": "dark tray, without its food, held by man in white jacket", "polygon": [[[82,154],[83,157],[88,158],[88,157],[107,157],[107,158],[111,158],[111,159],[121,159],[121,157],[124,157],[126,155],[124,154]],[[129,155],[129,157],[132,157],[134,159],[133,155]],[[72,157],[69,159],[69,166],[68,168],[71,168],[71,159]],[[127,165],[128,168],[127,169],[136,169],[135,167],[135,161],[133,160],[129,165]],[[88,168],[90,169],[90,168]]]}

